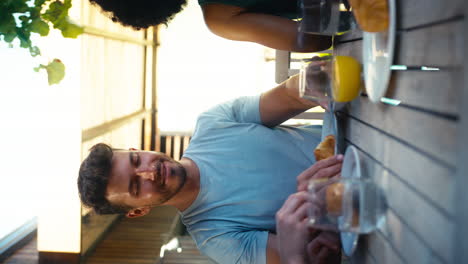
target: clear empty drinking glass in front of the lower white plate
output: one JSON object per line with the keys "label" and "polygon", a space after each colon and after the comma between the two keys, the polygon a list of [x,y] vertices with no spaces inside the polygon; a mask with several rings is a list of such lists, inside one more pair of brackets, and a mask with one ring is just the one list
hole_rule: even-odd
{"label": "clear empty drinking glass in front of the lower white plate", "polygon": [[386,211],[383,191],[370,179],[312,179],[309,225],[328,231],[367,234],[379,228]]}

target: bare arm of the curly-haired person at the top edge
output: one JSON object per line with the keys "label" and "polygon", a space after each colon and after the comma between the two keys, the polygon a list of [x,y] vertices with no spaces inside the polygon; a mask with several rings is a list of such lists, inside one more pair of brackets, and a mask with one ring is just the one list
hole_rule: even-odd
{"label": "bare arm of the curly-haired person at the top edge", "polygon": [[330,37],[311,34],[297,43],[297,22],[291,19],[245,12],[245,8],[224,4],[206,4],[202,9],[208,28],[223,38],[295,52],[320,51],[331,46]]}

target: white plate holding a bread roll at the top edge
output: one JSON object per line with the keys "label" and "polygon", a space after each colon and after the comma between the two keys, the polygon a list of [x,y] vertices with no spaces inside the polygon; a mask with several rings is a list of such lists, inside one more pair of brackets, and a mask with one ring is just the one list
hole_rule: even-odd
{"label": "white plate holding a bread roll at the top edge", "polygon": [[388,87],[393,51],[395,48],[396,6],[395,0],[388,0],[389,26],[387,31],[362,34],[362,63],[369,99],[380,102]]}

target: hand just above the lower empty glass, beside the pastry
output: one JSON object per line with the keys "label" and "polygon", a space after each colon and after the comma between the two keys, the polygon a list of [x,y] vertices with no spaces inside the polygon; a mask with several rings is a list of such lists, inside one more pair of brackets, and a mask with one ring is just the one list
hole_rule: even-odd
{"label": "hand just above the lower empty glass, beside the pastry", "polygon": [[342,163],[343,155],[341,154],[317,161],[297,176],[297,191],[307,191],[310,179],[331,178],[340,175]]}

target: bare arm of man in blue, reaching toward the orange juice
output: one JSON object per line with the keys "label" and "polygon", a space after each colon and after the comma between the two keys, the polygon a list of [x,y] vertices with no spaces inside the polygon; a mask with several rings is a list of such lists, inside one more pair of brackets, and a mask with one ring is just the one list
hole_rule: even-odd
{"label": "bare arm of man in blue, reaching toward the orange juice", "polygon": [[309,108],[318,106],[299,97],[299,75],[294,75],[260,97],[262,123],[274,127]]}

